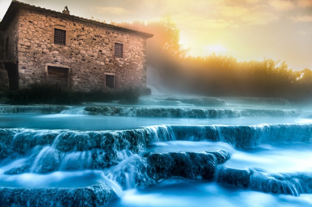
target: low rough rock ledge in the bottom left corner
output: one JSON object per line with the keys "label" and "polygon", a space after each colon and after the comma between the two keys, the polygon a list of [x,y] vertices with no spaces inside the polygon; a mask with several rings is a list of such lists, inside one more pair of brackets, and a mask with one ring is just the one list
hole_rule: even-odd
{"label": "low rough rock ledge in the bottom left corner", "polygon": [[102,206],[113,196],[104,183],[83,188],[0,188],[1,206]]}

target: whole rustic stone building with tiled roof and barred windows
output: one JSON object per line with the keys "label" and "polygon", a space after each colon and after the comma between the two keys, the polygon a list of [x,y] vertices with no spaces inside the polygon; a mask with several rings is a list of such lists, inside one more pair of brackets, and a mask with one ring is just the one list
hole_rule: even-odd
{"label": "whole rustic stone building with tiled roof and barred windows", "polygon": [[13,0],[0,23],[0,69],[10,89],[34,82],[76,91],[146,87],[152,34]]}

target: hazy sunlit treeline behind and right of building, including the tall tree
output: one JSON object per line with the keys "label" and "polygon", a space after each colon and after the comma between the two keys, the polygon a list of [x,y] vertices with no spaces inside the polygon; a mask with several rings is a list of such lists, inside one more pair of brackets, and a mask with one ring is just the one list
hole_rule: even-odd
{"label": "hazy sunlit treeline behind and right of building, including the tall tree", "polygon": [[208,96],[312,99],[312,71],[294,71],[286,62],[264,59],[238,62],[232,56],[187,56],[180,31],[169,18],[160,22],[116,23],[153,33],[147,42],[147,64],[159,71],[162,86]]}

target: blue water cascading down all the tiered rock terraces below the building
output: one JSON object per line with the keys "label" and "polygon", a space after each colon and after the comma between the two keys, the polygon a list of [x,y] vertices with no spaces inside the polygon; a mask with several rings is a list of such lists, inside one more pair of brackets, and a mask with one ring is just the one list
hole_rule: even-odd
{"label": "blue water cascading down all the tiered rock terraces below the building", "polygon": [[1,206],[312,205],[304,111],[92,107],[1,115]]}

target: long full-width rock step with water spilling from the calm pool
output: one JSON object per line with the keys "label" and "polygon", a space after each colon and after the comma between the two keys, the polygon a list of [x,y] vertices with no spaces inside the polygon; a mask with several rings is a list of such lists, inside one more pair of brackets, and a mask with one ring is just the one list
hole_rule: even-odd
{"label": "long full-width rock step with water spilling from the calm pool", "polygon": [[[118,162],[126,150],[138,153],[153,142],[221,141],[234,147],[256,147],[274,142],[311,142],[312,124],[228,125],[160,125],[121,131],[22,130],[0,129],[0,161],[9,156],[25,155],[37,147],[37,153],[50,146],[62,157],[72,152],[105,156],[105,161]],[[61,155],[62,154],[62,155]],[[116,162],[114,162],[116,163]],[[113,165],[113,163],[109,164]]]}

